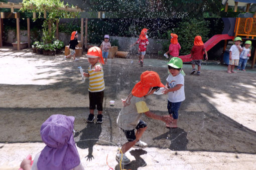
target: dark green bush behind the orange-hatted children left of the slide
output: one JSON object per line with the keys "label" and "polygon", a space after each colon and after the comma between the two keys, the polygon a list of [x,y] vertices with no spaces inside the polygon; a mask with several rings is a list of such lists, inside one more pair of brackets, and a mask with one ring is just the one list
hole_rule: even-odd
{"label": "dark green bush behind the orange-hatted children left of the slide", "polygon": [[[190,53],[190,50],[194,44],[194,38],[196,35],[202,36],[203,42],[209,39],[208,34],[210,29],[208,28],[209,21],[204,19],[183,19],[178,23],[178,27],[168,30],[168,38],[170,39],[171,33],[178,35],[178,41],[181,45],[180,55],[186,55]],[[168,51],[170,41],[163,44],[163,50]]]}

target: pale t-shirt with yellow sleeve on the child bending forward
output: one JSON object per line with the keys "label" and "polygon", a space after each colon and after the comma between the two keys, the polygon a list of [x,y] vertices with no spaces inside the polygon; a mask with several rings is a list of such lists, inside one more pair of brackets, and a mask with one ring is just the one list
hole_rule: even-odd
{"label": "pale t-shirt with yellow sleeve on the child bending forward", "polygon": [[145,97],[133,96],[130,105],[122,107],[116,123],[123,130],[133,130],[140,121],[142,113],[149,111]]}

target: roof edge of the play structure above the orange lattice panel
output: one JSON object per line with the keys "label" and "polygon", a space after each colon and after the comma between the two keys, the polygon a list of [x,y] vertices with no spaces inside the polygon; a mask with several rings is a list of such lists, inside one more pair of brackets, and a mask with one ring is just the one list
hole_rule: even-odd
{"label": "roof edge of the play structure above the orange lattice panel", "polygon": [[222,0],[222,4],[225,5],[225,12],[227,12],[228,6],[234,6],[234,12],[237,11],[237,6],[246,6],[245,11],[248,12],[252,3],[256,3],[256,0]]}

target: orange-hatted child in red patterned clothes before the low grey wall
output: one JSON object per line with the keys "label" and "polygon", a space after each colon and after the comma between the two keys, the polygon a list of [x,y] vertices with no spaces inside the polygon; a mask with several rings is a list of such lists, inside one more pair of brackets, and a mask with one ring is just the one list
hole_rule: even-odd
{"label": "orange-hatted child in red patterned clothes before the low grey wall", "polygon": [[140,37],[139,39],[133,43],[131,45],[134,46],[135,44],[139,43],[139,51],[140,51],[140,55],[139,55],[139,61],[138,63],[141,64],[141,66],[143,66],[143,60],[144,60],[144,56],[146,54],[146,49],[147,49],[147,45],[149,44],[149,40],[147,38],[147,33],[148,33],[148,30],[147,28],[143,28],[142,31],[141,31],[141,34],[140,34]]}

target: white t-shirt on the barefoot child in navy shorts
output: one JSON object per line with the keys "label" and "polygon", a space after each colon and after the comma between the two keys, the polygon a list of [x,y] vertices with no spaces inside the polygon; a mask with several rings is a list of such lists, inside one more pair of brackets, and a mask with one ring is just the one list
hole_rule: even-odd
{"label": "white t-shirt on the barefoot child in navy shorts", "polygon": [[180,89],[177,91],[170,91],[168,92],[168,100],[170,102],[180,102],[185,100],[185,92],[184,92],[184,76],[179,73],[176,76],[169,74],[166,78],[168,85],[170,88],[175,87],[177,84],[183,84]]}

